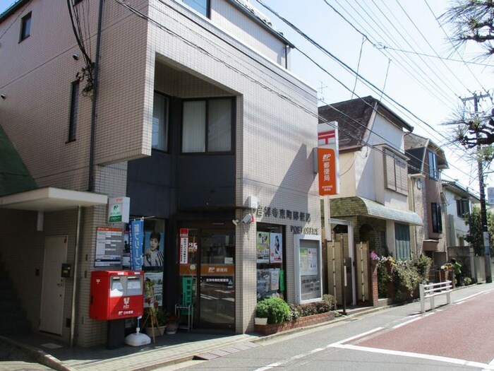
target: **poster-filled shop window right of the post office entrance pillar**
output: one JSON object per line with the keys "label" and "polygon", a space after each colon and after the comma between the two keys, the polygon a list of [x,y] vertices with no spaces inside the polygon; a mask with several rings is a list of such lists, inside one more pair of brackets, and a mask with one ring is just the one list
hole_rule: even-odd
{"label": "poster-filled shop window right of the post office entrance pillar", "polygon": [[282,226],[258,223],[257,252],[257,298],[285,297],[284,293],[284,238]]}

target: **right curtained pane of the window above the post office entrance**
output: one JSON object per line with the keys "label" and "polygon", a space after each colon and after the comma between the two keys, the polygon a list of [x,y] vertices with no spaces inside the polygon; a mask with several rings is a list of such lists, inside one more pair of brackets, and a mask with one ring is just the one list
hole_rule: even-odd
{"label": "right curtained pane of the window above the post office entrance", "polygon": [[207,151],[231,151],[231,100],[210,100],[207,126]]}

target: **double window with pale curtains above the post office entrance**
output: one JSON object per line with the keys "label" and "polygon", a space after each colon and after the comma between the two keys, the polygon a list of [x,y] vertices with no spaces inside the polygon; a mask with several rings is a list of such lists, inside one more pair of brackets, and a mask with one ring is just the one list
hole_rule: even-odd
{"label": "double window with pale curtains above the post office entrance", "polygon": [[182,153],[231,152],[231,98],[183,102]]}

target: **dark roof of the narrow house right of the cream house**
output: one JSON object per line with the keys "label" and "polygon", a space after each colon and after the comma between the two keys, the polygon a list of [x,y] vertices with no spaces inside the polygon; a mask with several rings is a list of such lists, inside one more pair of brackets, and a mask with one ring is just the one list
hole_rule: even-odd
{"label": "dark roof of the narrow house right of the cream house", "polygon": [[448,169],[450,167],[447,164],[445,152],[429,138],[413,133],[406,133],[403,137],[403,141],[405,154],[410,158],[409,174],[424,172],[423,165],[426,162],[427,149],[438,155],[438,167],[440,170]]}

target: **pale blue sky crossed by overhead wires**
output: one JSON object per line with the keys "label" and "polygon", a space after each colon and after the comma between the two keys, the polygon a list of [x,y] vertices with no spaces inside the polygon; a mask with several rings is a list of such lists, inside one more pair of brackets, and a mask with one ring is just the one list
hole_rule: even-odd
{"label": "pale blue sky crossed by overhead wires", "polygon": [[[476,59],[481,49],[475,44],[452,47],[446,37],[452,28],[437,20],[451,1],[249,1],[297,47],[291,54],[292,71],[318,90],[320,105],[373,95],[414,126],[414,133],[430,137],[445,149],[450,170],[443,179],[459,179],[465,187],[478,189],[476,163],[462,148],[449,143],[452,129],[442,123],[463,107],[461,98],[493,93],[494,60]],[[332,57],[260,2],[287,18]],[[0,12],[12,3],[0,0]],[[354,71],[362,78],[356,80]],[[471,111],[469,102],[464,108]],[[492,106],[488,99],[481,101],[481,109]],[[486,183],[494,186],[494,177],[492,181],[490,177]]]}

